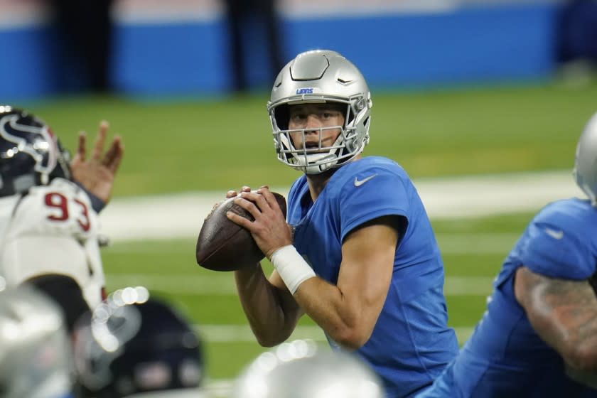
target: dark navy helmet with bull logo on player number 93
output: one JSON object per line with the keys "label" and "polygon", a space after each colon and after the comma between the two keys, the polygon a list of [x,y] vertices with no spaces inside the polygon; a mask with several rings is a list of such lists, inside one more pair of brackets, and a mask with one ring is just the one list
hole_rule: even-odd
{"label": "dark navy helmet with bull logo on player number 93", "polygon": [[70,179],[70,156],[43,120],[0,105],[0,197]]}

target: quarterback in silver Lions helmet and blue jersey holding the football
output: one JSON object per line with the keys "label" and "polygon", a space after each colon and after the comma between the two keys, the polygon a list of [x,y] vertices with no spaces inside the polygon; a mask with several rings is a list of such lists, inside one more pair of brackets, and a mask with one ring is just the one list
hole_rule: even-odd
{"label": "quarterback in silver Lions helmet and blue jersey holding the football", "polygon": [[[278,345],[306,313],[330,346],[353,350],[384,382],[387,397],[429,387],[458,351],[447,326],[443,262],[407,173],[362,156],[371,95],[360,71],[330,50],[301,53],[279,72],[267,105],[279,161],[303,173],[284,220],[267,187],[237,203],[274,265],[235,271],[260,344]],[[235,191],[227,197],[237,195]]]}

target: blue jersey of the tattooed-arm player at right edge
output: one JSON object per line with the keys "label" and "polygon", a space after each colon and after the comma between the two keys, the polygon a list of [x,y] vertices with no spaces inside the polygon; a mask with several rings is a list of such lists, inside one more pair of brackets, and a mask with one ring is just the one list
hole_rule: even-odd
{"label": "blue jersey of the tattooed-arm player at right edge", "polygon": [[587,200],[547,205],[506,258],[488,308],[473,335],[434,386],[420,397],[597,397],[573,382],[555,350],[534,332],[514,294],[522,266],[559,279],[596,271],[597,209]]}

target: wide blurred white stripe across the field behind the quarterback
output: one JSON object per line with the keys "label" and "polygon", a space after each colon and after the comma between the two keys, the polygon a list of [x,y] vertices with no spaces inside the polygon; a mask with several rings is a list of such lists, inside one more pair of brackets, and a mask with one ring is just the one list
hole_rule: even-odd
{"label": "wide blurred white stripe across the field behind the quarterback", "polygon": [[[571,171],[419,178],[414,183],[431,220],[534,213],[547,203],[584,197]],[[272,188],[286,195],[288,188]],[[102,212],[102,233],[112,242],[195,239],[222,192],[114,198]]]}

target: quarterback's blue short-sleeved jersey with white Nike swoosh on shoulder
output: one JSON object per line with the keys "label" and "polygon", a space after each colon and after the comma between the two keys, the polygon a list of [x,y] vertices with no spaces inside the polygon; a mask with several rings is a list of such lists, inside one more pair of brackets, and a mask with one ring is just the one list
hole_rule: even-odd
{"label": "quarterback's blue short-sleeved jersey with white Nike swoosh on shoulder", "polygon": [[315,203],[302,176],[291,187],[288,209],[294,246],[331,284],[338,281],[342,242],[350,231],[384,215],[404,217],[407,227],[396,247],[386,301],[357,355],[382,377],[388,397],[409,397],[431,385],[458,343],[446,325],[439,248],[407,173],[386,158],[362,158],[340,167]]}

